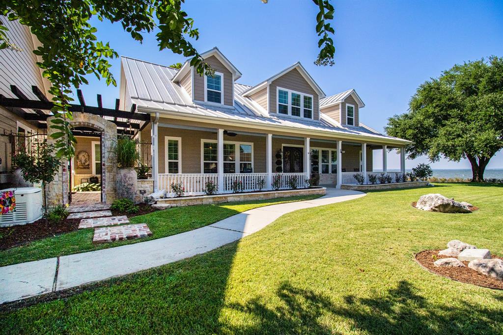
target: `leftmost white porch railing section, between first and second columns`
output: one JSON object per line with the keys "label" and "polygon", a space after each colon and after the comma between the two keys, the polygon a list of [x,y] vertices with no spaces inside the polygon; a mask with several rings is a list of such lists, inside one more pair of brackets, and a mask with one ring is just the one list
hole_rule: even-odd
{"label": "leftmost white porch railing section, between first and second columns", "polygon": [[218,184],[217,173],[159,173],[158,187],[165,189],[168,196],[174,196],[171,184],[181,183],[186,195],[201,195],[204,194],[208,178]]}

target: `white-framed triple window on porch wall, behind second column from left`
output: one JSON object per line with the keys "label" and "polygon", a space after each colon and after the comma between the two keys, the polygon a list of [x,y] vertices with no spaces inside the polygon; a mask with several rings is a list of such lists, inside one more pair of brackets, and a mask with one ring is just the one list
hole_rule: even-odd
{"label": "white-framed triple window on porch wall, behind second column from left", "polygon": [[[202,140],[203,173],[218,173],[216,141]],[[236,152],[239,150],[239,152]],[[223,173],[253,172],[253,144],[225,141],[223,143]]]}

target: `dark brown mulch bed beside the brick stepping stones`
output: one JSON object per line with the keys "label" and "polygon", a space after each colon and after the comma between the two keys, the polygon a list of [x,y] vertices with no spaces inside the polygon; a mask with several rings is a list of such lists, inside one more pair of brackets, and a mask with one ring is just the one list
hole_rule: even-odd
{"label": "dark brown mulch bed beside the brick stepping stones", "polygon": [[[146,203],[139,203],[138,207],[140,210],[135,214],[127,214],[118,210],[112,210],[112,214],[113,216],[126,215],[127,217],[132,217],[155,211],[155,208],[152,208],[152,206]],[[67,218],[59,225],[51,225],[48,223],[46,224],[46,220],[41,218],[33,222],[33,224],[2,227],[0,228],[0,250],[6,250],[36,240],[76,231],[79,223],[79,218]]]}

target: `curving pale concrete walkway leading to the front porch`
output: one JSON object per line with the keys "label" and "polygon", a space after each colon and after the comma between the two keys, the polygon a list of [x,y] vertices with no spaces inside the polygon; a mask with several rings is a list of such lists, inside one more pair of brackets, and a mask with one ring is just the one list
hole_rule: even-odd
{"label": "curving pale concrete walkway leading to the front porch", "polygon": [[364,195],[358,191],[327,188],[326,195],[317,199],[247,210],[182,234],[0,267],[0,304],[176,262],[253,234],[288,212]]}

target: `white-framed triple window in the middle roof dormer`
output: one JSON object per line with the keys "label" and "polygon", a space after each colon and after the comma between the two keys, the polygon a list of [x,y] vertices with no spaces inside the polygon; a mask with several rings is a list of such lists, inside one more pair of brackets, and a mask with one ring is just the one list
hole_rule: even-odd
{"label": "white-framed triple window in the middle roof dormer", "polygon": [[277,88],[278,114],[313,118],[313,96],[286,88]]}

